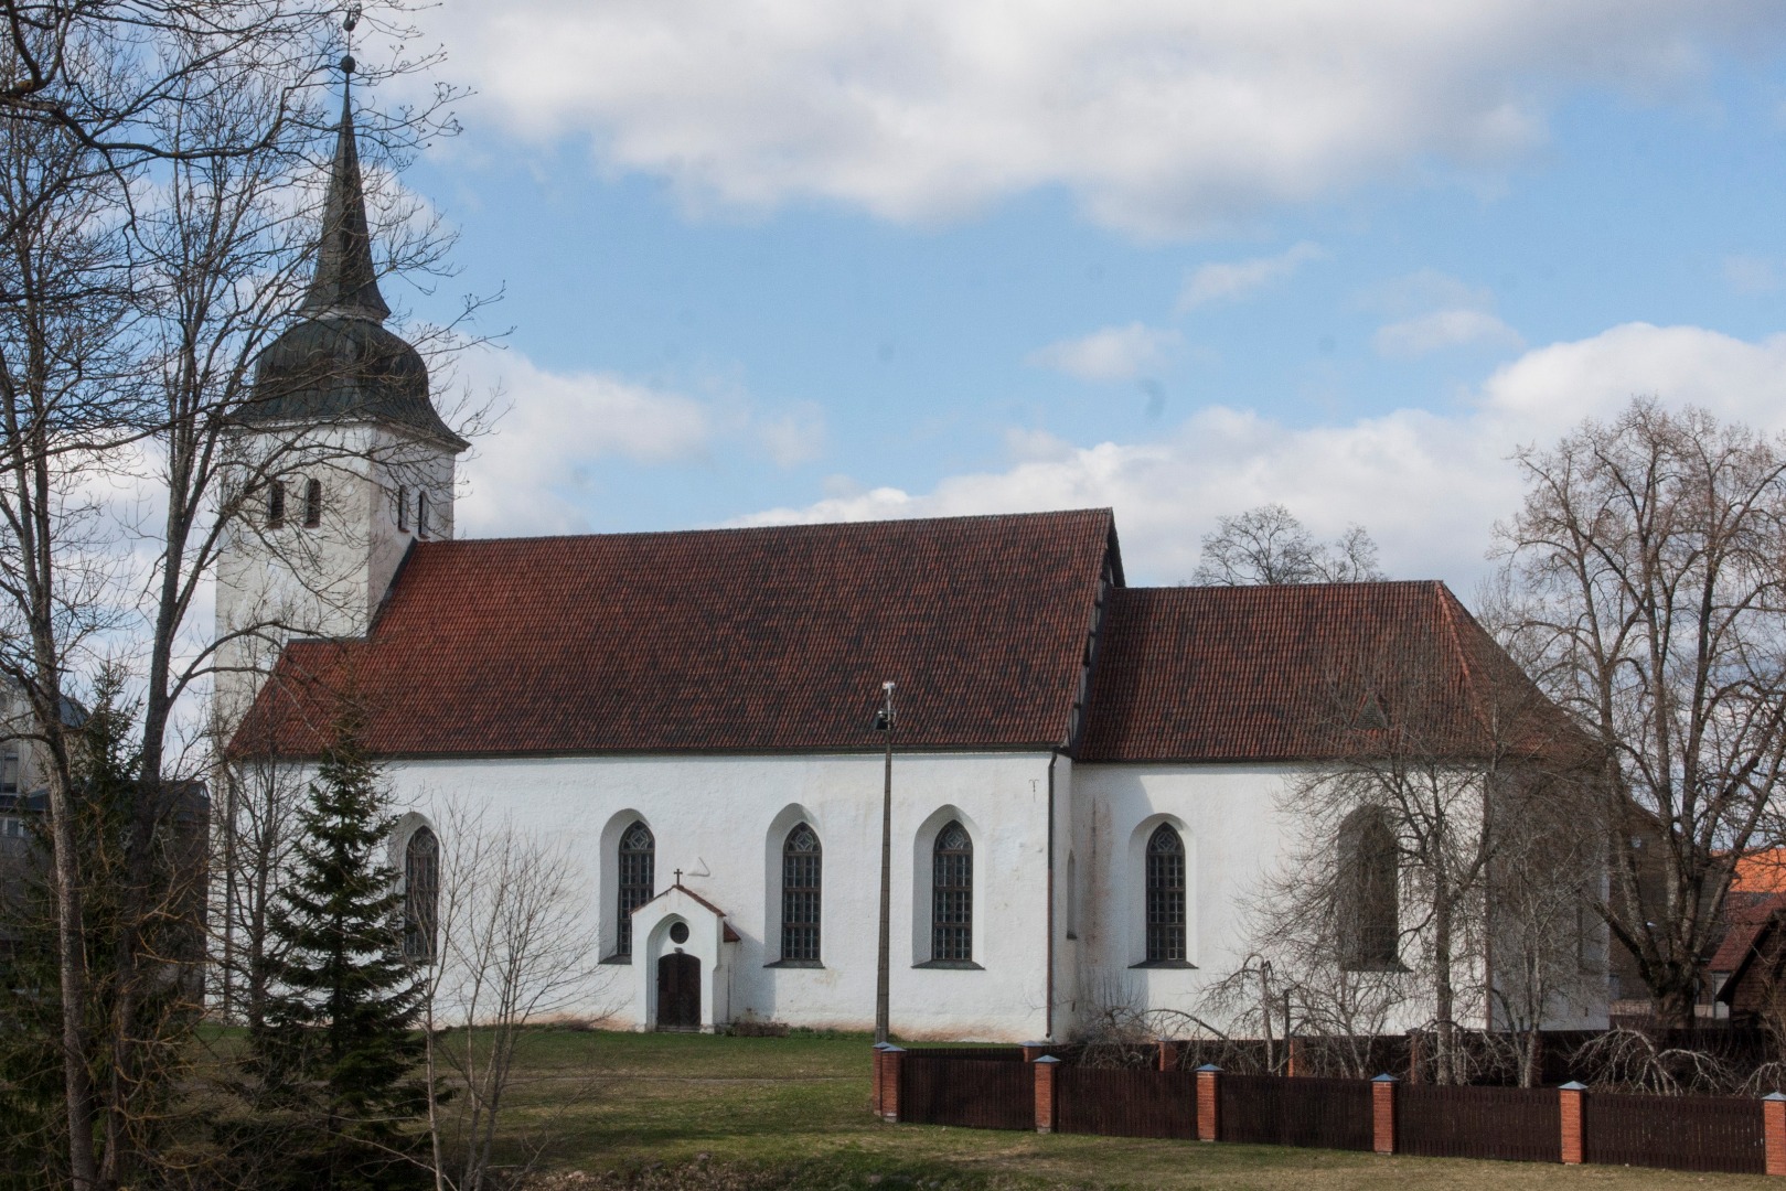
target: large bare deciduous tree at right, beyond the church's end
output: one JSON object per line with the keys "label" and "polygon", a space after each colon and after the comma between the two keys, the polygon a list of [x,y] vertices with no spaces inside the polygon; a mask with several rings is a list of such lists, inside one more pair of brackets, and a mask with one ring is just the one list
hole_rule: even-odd
{"label": "large bare deciduous tree at right, beyond the church's end", "polygon": [[1652,1012],[1690,1025],[1786,761],[1786,446],[1634,400],[1518,454],[1497,536],[1534,677],[1595,743],[1609,896]]}

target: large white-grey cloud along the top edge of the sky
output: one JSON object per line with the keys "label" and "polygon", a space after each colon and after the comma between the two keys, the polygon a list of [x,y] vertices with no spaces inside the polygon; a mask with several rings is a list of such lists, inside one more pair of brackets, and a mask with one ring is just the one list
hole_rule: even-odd
{"label": "large white-grey cloud along the top edge of the sky", "polygon": [[1782,18],[1775,0],[450,0],[430,32],[509,130],[588,136],[695,202],[934,220],[1059,186],[1107,227],[1179,236],[1434,162],[1493,168],[1568,91],[1679,91]]}

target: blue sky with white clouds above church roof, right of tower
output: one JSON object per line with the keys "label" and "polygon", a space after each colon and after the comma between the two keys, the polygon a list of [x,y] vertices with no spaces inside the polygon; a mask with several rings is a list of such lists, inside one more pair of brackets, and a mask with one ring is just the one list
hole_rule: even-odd
{"label": "blue sky with white clouds above church roof, right of tower", "polygon": [[448,0],[461,532],[1113,504],[1173,582],[1279,500],[1468,593],[1518,443],[1786,430],[1786,11],[1247,9]]}

